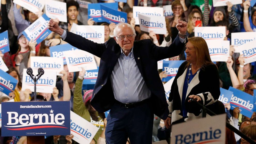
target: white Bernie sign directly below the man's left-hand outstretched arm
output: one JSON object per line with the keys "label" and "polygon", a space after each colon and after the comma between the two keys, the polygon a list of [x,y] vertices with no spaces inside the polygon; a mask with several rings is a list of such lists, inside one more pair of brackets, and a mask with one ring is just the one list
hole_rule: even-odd
{"label": "white Bernie sign directly below the man's left-hand outstretched arm", "polygon": [[83,67],[85,70],[97,69],[97,65],[93,54],[82,51],[64,51],[69,72],[81,71]]}

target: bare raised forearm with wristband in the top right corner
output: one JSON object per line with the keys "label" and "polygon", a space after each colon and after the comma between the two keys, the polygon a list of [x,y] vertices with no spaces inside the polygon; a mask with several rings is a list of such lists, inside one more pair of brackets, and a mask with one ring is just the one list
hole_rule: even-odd
{"label": "bare raised forearm with wristband in the top right corner", "polygon": [[[244,7],[244,29],[245,31],[253,31],[250,25],[250,21],[249,21],[249,15],[248,15],[248,9],[251,6],[250,0],[247,0],[243,3],[243,7]],[[247,11],[247,12],[246,12]]]}

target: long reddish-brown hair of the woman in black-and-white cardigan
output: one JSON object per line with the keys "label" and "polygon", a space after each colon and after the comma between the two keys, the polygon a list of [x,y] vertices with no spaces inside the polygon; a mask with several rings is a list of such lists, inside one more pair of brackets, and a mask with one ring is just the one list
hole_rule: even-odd
{"label": "long reddish-brown hair of the woman in black-and-white cardigan", "polygon": [[[188,42],[190,42],[196,51],[196,65],[201,66],[204,68],[204,66],[208,66],[214,63],[212,62],[210,58],[210,53],[208,50],[207,43],[202,37],[191,37],[188,38]],[[189,66],[189,62],[187,66]]]}

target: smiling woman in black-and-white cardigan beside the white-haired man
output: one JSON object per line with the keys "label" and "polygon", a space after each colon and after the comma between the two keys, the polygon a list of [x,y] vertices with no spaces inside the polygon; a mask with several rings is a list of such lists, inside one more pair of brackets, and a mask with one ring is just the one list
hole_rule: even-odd
{"label": "smiling woman in black-and-white cardigan beside the white-haired man", "polygon": [[218,69],[210,59],[205,40],[202,37],[188,38],[185,52],[187,61],[179,67],[167,101],[170,112],[165,120],[167,128],[171,123],[202,117],[201,108],[190,103],[191,98],[208,106],[214,105],[220,96]]}

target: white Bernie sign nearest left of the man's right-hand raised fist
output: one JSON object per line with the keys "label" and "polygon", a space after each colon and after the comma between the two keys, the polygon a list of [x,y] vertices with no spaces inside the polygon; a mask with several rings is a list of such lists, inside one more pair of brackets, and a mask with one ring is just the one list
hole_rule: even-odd
{"label": "white Bernie sign nearest left of the man's right-hand raised fist", "polygon": [[166,34],[165,17],[138,14],[140,29],[146,32],[154,31],[156,34]]}

